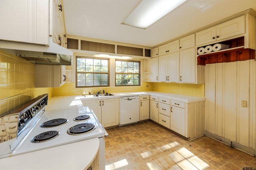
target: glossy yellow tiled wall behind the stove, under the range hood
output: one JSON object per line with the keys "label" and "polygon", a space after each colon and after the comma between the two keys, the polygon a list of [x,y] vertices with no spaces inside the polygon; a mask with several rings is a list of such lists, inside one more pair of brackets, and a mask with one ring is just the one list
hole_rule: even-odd
{"label": "glossy yellow tiled wall behind the stove, under the range hood", "polygon": [[0,115],[52,88],[35,88],[35,64],[0,50]]}

